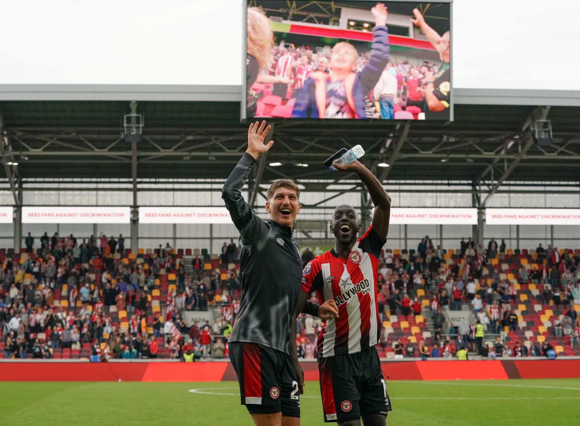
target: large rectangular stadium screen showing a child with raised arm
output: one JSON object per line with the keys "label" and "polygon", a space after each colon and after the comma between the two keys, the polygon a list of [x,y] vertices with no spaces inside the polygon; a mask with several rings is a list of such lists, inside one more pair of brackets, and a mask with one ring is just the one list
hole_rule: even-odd
{"label": "large rectangular stadium screen showing a child with raised arm", "polygon": [[243,7],[242,119],[452,120],[450,2]]}

